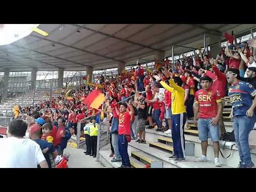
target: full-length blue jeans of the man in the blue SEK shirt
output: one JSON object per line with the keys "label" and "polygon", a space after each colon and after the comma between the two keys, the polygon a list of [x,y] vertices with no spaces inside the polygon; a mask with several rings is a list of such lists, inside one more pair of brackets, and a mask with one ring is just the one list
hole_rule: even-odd
{"label": "full-length blue jeans of the man in the blue SEK shirt", "polygon": [[245,166],[252,162],[248,138],[250,131],[253,129],[254,123],[255,117],[234,117],[233,129],[235,133],[236,145],[239,151],[240,161],[244,163]]}

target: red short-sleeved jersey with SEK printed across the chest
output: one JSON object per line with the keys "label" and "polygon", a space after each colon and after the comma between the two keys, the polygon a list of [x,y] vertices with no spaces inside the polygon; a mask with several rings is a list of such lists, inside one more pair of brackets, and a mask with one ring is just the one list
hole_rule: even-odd
{"label": "red short-sleeved jersey with SEK printed across the chest", "polygon": [[201,89],[197,91],[195,100],[199,105],[199,118],[216,117],[218,112],[217,102],[221,102],[221,98],[218,92],[212,90],[212,87],[209,90]]}

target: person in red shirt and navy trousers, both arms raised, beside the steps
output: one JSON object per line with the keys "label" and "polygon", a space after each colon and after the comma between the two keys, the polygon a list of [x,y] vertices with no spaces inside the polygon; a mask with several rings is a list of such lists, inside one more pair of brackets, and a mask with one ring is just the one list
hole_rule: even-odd
{"label": "person in red shirt and navy trousers, both arms raised, beside the steps", "polygon": [[[128,155],[128,142],[131,140],[131,124],[132,115],[134,109],[130,100],[129,103],[131,111],[127,111],[127,104],[120,104],[120,111],[115,106],[116,114],[119,115],[119,126],[118,126],[118,148],[122,158],[122,165],[119,168],[131,167],[130,159]],[[127,140],[128,139],[128,140]]]}

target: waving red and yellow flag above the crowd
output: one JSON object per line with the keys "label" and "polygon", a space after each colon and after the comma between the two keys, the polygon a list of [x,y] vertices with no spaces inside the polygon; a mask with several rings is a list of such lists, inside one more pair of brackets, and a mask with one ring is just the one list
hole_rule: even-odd
{"label": "waving red and yellow flag above the crowd", "polygon": [[83,99],[83,103],[91,108],[98,109],[105,101],[105,96],[99,90],[93,90],[86,98]]}

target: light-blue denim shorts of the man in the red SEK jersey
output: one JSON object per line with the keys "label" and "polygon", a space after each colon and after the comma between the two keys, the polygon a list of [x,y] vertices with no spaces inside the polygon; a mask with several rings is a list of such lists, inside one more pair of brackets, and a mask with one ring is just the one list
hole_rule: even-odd
{"label": "light-blue denim shorts of the man in the red SEK jersey", "polygon": [[207,141],[208,140],[208,133],[210,132],[211,139],[213,142],[219,141],[219,124],[213,126],[211,125],[212,118],[198,119],[198,135],[200,141]]}

